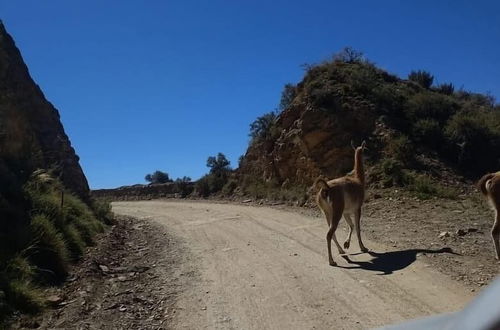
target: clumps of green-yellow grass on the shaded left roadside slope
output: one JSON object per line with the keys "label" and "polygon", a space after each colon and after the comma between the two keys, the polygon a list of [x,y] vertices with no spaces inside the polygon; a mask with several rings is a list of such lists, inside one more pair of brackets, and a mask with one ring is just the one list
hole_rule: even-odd
{"label": "clumps of green-yellow grass on the shaded left roadside slope", "polygon": [[111,209],[105,202],[87,205],[45,171],[37,171],[19,187],[24,203],[11,202],[5,191],[0,189],[1,204],[7,210],[23,206],[24,213],[18,214],[24,218],[13,223],[21,227],[9,237],[17,245],[0,251],[0,315],[15,310],[36,313],[44,305],[38,285],[64,280],[70,262],[94,243],[104,223],[112,223]]}

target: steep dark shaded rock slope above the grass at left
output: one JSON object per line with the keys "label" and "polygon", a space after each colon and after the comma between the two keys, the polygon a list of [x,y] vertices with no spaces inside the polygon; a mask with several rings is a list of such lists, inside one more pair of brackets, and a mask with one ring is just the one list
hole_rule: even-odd
{"label": "steep dark shaded rock slope above the grass at left", "polygon": [[28,158],[34,168],[54,169],[65,186],[89,195],[79,158],[59,113],[31,78],[19,49],[0,21],[0,156]]}

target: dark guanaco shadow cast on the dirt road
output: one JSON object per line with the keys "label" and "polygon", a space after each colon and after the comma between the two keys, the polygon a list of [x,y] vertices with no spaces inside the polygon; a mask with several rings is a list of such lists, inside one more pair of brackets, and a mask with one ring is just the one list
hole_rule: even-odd
{"label": "dark guanaco shadow cast on the dirt road", "polygon": [[418,253],[451,253],[458,255],[458,253],[453,252],[453,250],[449,247],[441,248],[439,250],[409,249],[383,253],[370,251],[368,253],[374,257],[370,261],[354,261],[351,260],[349,256],[342,256],[349,264],[357,265],[358,267],[338,267],[346,269],[366,269],[380,272],[378,275],[388,275],[411,265],[415,262],[415,260],[417,260]]}

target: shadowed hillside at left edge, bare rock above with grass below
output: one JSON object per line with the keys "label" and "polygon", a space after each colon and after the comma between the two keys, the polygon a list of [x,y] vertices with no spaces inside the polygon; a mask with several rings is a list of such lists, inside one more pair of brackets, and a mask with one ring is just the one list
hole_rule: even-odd
{"label": "shadowed hillside at left edge, bare rock above with grass below", "polygon": [[109,221],[58,111],[0,22],[0,328],[14,311],[43,309],[40,286],[64,281]]}

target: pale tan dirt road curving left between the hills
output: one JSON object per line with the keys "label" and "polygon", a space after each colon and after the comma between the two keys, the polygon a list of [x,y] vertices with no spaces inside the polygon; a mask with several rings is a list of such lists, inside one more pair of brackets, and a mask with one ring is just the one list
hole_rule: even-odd
{"label": "pale tan dirt road curving left between the hills", "polygon": [[[188,256],[178,329],[352,329],[456,311],[472,293],[419,253],[354,240],[328,265],[326,222],[268,207],[179,201],[116,202],[118,214],[166,227]],[[365,218],[362,222],[370,221]],[[338,230],[342,242],[346,232]]]}

